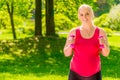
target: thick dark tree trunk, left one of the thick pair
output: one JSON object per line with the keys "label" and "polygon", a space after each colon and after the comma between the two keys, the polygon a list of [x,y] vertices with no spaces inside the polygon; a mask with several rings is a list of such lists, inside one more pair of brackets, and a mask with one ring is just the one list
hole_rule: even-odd
{"label": "thick dark tree trunk, left one of the thick pair", "polygon": [[42,22],[41,22],[41,0],[35,0],[35,36],[42,36]]}

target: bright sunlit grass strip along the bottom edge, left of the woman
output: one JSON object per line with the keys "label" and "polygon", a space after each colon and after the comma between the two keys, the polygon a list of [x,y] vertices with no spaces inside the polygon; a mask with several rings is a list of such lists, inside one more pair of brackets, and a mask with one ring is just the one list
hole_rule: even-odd
{"label": "bright sunlit grass strip along the bottom edge, left of the woman", "polygon": [[21,75],[21,74],[9,74],[0,73],[0,80],[67,80],[67,76],[60,75],[45,75],[39,76],[34,74]]}

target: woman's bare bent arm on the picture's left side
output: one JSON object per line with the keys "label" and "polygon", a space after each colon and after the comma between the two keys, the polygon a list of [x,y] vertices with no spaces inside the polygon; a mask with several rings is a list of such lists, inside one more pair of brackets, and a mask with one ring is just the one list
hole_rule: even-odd
{"label": "woman's bare bent arm on the picture's left side", "polygon": [[66,57],[72,55],[73,49],[70,47],[70,45],[71,45],[71,44],[74,44],[74,42],[75,42],[75,39],[74,39],[74,38],[73,38],[73,39],[70,38],[70,35],[71,35],[71,34],[74,34],[74,35],[75,35],[75,29],[72,29],[72,30],[69,32],[68,37],[67,37],[67,39],[66,39],[66,43],[65,43],[65,46],[64,46],[64,49],[63,49],[64,55],[65,55]]}

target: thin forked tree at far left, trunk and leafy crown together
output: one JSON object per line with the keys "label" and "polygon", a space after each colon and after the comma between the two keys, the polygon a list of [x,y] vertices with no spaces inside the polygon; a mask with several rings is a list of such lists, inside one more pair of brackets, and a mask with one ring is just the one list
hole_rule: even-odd
{"label": "thin forked tree at far left, trunk and leafy crown together", "polygon": [[29,18],[33,10],[33,0],[0,0],[0,10],[7,12],[10,16],[13,38],[16,38],[14,15]]}

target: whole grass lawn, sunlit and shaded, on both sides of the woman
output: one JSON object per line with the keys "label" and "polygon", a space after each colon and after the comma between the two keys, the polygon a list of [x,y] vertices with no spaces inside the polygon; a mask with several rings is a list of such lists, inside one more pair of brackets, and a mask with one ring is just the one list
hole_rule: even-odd
{"label": "whole grass lawn, sunlit and shaded, on both sides of the woman", "polygon": [[[120,36],[109,36],[109,57],[101,56],[103,80],[120,80]],[[66,37],[0,41],[0,80],[67,80]]]}

